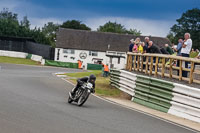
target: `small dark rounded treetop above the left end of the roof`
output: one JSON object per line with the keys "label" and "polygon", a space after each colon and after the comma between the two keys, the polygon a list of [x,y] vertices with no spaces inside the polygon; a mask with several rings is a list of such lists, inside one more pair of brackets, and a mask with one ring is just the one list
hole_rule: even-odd
{"label": "small dark rounded treetop above the left end of the roof", "polygon": [[79,30],[91,30],[90,27],[86,26],[85,24],[82,24],[82,22],[78,20],[68,20],[64,22],[60,27]]}

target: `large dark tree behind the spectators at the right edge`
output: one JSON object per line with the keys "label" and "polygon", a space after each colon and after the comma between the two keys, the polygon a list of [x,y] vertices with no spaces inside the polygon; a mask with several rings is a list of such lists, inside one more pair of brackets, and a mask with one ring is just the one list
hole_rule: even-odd
{"label": "large dark tree behind the spectators at the right edge", "polygon": [[186,32],[191,34],[193,48],[200,49],[200,9],[194,8],[186,11],[176,20],[170,33],[167,35],[170,41],[177,43],[179,38],[183,38]]}

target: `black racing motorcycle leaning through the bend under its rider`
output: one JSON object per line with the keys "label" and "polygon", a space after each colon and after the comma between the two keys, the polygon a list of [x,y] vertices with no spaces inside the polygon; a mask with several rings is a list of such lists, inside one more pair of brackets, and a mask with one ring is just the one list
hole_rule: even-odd
{"label": "black racing motorcycle leaning through the bend under its rider", "polygon": [[89,82],[84,83],[74,96],[69,92],[68,103],[77,102],[78,106],[82,106],[88,99],[90,93],[93,91],[93,85]]}

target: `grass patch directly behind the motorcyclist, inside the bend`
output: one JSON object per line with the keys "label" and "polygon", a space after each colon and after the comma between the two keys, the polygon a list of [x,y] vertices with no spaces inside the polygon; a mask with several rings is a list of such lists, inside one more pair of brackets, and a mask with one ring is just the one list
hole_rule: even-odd
{"label": "grass patch directly behind the motorcyclist, inside the bend", "polygon": [[93,70],[91,72],[66,73],[68,77],[71,77],[70,81],[72,81],[74,84],[76,84],[77,78],[89,76],[90,74],[94,74],[97,77],[95,88],[97,95],[120,97],[121,91],[111,87],[109,77],[101,77],[101,71],[99,70]]}

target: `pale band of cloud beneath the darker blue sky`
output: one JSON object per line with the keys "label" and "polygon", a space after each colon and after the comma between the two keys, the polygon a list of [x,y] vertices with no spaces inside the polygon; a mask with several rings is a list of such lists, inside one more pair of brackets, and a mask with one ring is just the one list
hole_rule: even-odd
{"label": "pale band of cloud beneath the darker blue sky", "polygon": [[81,20],[83,23],[91,27],[92,30],[97,30],[100,25],[104,25],[106,22],[112,21],[124,25],[127,29],[135,28],[140,30],[142,35],[166,37],[166,35],[169,33],[170,27],[175,23],[175,20],[167,21],[112,16],[102,17],[98,14],[96,14],[95,17],[93,17],[91,14],[83,15],[88,14],[87,12],[77,15],[78,13],[72,9],[70,9],[70,12],[73,14],[70,16],[65,16],[64,14],[62,16],[60,15],[63,13],[61,9],[58,11],[52,10],[51,8],[27,0],[0,0],[0,9],[3,8],[9,8],[10,11],[17,13],[19,15],[19,20],[21,20],[23,16],[28,16],[28,19],[31,22],[31,28],[43,27],[47,22],[62,24],[64,21],[73,18]]}

